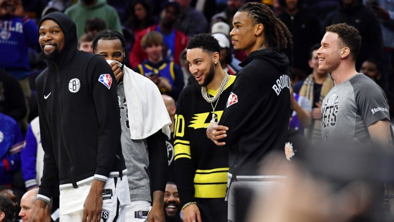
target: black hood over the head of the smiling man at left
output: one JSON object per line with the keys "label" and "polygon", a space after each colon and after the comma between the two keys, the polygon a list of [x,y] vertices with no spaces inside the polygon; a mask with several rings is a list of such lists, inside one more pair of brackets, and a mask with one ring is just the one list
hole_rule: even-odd
{"label": "black hood over the head of the smiling man at left", "polygon": [[54,11],[46,14],[38,23],[38,28],[41,26],[41,23],[44,20],[53,20],[56,22],[64,34],[64,51],[68,50],[69,48],[75,48],[78,44],[78,40],[76,39],[76,26],[74,21],[68,17],[66,14]]}

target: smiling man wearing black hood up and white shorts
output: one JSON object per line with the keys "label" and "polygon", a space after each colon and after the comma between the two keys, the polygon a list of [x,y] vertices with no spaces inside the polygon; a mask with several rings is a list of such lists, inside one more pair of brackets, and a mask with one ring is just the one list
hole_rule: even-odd
{"label": "smiling man wearing black hood up and white shorts", "polygon": [[60,221],[124,221],[130,200],[115,76],[102,56],[76,50],[67,15],[49,13],[38,27],[48,67],[36,78],[45,155],[33,221],[42,220],[56,181]]}

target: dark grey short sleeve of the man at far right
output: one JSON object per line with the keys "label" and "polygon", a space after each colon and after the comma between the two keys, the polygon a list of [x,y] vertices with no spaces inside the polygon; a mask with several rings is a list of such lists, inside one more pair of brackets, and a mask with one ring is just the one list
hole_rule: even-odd
{"label": "dark grey short sleeve of the man at far right", "polygon": [[374,84],[363,84],[356,90],[358,111],[364,119],[366,127],[378,120],[390,119],[386,98],[380,87]]}

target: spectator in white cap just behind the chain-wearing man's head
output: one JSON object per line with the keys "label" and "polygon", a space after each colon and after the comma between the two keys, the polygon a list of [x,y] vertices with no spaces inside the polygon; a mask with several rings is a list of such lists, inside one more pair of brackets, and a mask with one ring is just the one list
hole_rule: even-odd
{"label": "spectator in white cap just behind the chain-wearing man's head", "polygon": [[235,75],[239,69],[235,69],[231,65],[232,53],[230,48],[230,41],[227,36],[223,33],[213,33],[213,37],[219,42],[220,45],[220,65],[221,68],[230,75]]}

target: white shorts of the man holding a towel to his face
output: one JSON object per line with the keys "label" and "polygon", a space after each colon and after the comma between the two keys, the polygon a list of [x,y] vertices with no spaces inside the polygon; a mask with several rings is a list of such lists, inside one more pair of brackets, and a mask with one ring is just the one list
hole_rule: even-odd
{"label": "white shorts of the man holding a towel to his face", "polygon": [[146,221],[148,213],[152,206],[149,201],[135,200],[131,201],[130,205],[126,206],[126,221],[127,222],[143,222]]}

